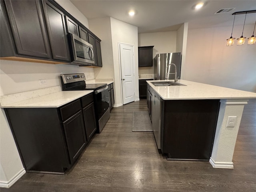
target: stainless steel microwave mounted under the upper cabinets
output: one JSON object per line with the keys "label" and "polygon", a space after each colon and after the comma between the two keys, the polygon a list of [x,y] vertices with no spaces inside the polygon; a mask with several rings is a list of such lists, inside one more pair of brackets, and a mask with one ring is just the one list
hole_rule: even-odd
{"label": "stainless steel microwave mounted under the upper cabinets", "polygon": [[90,43],[74,34],[68,34],[72,64],[94,64],[93,47]]}

